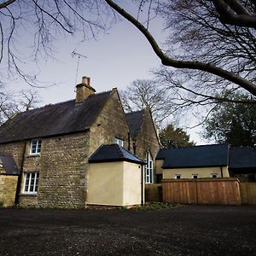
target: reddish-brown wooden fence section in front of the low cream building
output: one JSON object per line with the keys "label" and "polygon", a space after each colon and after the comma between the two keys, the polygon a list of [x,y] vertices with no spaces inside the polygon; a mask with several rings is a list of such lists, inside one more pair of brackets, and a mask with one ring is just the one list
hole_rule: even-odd
{"label": "reddish-brown wooden fence section in front of the low cream building", "polygon": [[237,178],[164,179],[162,186],[164,202],[241,205]]}

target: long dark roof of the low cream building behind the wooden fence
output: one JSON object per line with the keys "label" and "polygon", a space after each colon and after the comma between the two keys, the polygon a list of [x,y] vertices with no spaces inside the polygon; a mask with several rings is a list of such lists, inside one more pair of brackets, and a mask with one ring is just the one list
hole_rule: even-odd
{"label": "long dark roof of the low cream building behind the wooden fence", "polygon": [[163,159],[163,168],[228,166],[228,145],[204,145],[190,148],[160,149],[157,160]]}

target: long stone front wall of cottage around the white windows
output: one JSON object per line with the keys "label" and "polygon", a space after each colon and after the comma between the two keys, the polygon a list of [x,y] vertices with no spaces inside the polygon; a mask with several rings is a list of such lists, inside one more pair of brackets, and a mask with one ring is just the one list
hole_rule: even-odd
{"label": "long stone front wall of cottage around the white windows", "polygon": [[26,148],[23,172],[39,172],[38,195],[25,195],[23,175],[21,205],[39,207],[84,207],[89,132],[42,139],[39,155],[30,155]]}

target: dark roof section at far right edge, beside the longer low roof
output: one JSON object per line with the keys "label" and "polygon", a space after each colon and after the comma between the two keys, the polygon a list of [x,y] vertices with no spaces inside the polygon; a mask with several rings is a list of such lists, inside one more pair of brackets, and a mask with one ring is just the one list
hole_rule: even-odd
{"label": "dark roof section at far right edge, beside the longer low roof", "polygon": [[256,172],[256,148],[230,148],[230,169],[252,168]]}

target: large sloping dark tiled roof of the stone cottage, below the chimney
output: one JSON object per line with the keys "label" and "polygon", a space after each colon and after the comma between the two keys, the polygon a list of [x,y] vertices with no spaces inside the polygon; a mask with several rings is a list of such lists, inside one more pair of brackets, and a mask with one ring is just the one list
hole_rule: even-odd
{"label": "large sloping dark tiled roof of the stone cottage, below the chimney", "polygon": [[111,91],[90,95],[80,105],[75,101],[46,105],[18,113],[0,127],[0,143],[84,131],[96,119]]}

